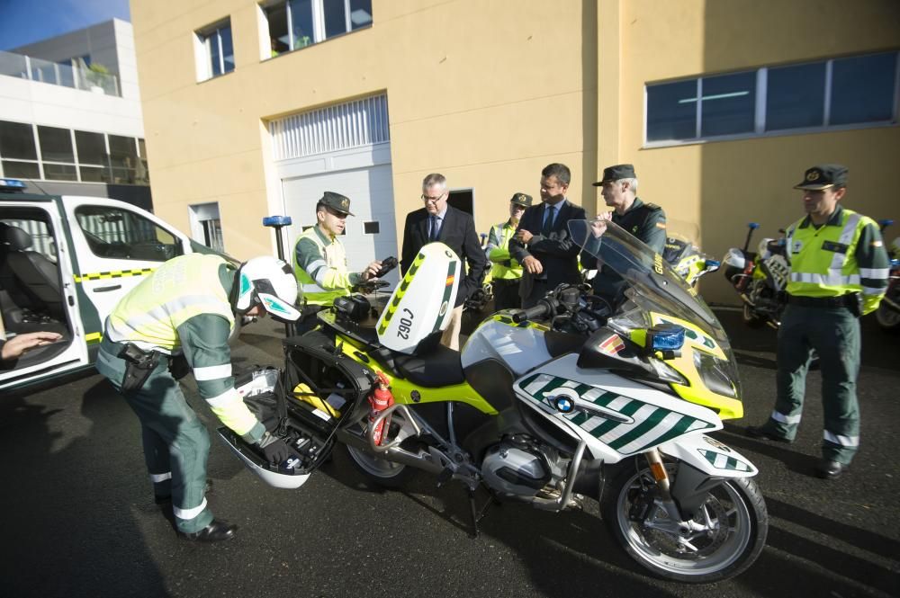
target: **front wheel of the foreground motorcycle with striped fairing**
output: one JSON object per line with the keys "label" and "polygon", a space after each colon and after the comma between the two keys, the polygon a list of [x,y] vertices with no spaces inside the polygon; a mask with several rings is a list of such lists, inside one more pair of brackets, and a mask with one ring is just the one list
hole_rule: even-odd
{"label": "front wheel of the foreground motorcycle with striped fairing", "polygon": [[[676,469],[669,465],[673,479]],[[769,513],[750,478],[710,488],[693,519],[682,525],[652,502],[655,481],[645,463],[626,468],[610,490],[605,514],[613,535],[654,576],[689,584],[722,581],[750,567],[765,545]]]}

